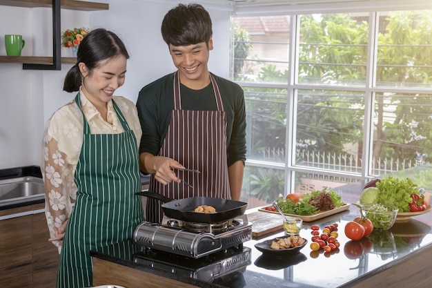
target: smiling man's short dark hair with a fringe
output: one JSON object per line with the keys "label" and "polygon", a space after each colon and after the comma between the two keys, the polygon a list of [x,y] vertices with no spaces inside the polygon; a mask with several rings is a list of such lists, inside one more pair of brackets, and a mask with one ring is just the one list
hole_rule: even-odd
{"label": "smiling man's short dark hair with a fringe", "polygon": [[168,46],[208,43],[213,35],[210,15],[196,3],[179,4],[169,10],[162,21],[161,32]]}

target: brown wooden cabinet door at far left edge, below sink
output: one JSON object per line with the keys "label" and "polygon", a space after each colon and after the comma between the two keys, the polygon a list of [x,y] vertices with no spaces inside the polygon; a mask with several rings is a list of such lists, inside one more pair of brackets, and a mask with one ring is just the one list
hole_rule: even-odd
{"label": "brown wooden cabinet door at far left edge, below sink", "polygon": [[0,220],[0,287],[32,287],[31,215]]}

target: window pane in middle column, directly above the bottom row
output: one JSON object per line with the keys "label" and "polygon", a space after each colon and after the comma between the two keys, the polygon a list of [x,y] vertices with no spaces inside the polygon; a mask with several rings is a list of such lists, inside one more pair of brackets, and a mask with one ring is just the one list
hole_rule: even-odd
{"label": "window pane in middle column, directly above the bottom row", "polygon": [[360,173],[363,119],[363,93],[299,90],[295,163]]}

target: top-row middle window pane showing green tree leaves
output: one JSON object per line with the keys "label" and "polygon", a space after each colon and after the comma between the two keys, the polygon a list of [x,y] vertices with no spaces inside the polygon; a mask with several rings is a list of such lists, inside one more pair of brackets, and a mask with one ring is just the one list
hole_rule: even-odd
{"label": "top-row middle window pane showing green tree leaves", "polygon": [[300,16],[299,84],[364,86],[369,14]]}

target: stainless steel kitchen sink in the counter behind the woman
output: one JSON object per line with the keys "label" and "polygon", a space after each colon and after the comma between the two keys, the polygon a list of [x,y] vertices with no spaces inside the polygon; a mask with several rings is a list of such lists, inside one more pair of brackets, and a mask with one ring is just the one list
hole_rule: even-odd
{"label": "stainless steel kitchen sink in the counter behind the woman", "polygon": [[44,197],[42,178],[26,176],[0,180],[0,206]]}

